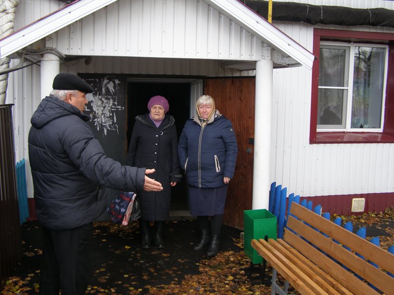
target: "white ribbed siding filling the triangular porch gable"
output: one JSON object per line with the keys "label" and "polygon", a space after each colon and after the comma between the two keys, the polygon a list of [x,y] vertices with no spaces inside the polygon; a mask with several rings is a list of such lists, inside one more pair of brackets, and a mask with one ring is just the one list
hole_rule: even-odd
{"label": "white ribbed siding filling the triangular porch gable", "polygon": [[259,60],[262,41],[202,0],[119,0],[54,34],[69,55]]}

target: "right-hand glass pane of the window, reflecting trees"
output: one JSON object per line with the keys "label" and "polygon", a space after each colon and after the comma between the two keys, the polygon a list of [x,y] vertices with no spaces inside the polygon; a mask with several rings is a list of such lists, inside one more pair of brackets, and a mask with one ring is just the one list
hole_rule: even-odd
{"label": "right-hand glass pane of the window, reflecting trees", "polygon": [[385,48],[355,47],[351,128],[380,128]]}

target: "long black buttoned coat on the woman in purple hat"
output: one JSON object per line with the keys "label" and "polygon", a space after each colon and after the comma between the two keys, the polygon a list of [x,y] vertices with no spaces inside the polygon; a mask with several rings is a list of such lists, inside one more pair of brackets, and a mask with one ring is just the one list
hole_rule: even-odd
{"label": "long black buttoned coat on the woman in purple hat", "polygon": [[177,155],[178,136],[175,120],[165,115],[156,127],[149,114],[137,116],[132,130],[126,165],[154,168],[149,177],[163,185],[160,192],[141,192],[141,217],[144,220],[166,220],[169,216],[171,181],[181,181],[181,169]]}

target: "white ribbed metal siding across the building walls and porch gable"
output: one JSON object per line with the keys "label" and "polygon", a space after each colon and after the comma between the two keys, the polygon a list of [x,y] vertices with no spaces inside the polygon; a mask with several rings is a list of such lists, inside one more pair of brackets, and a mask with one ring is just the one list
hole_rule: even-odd
{"label": "white ribbed metal siding across the building walls and porch gable", "polygon": [[[384,0],[283,1],[394,9],[394,1]],[[249,59],[249,55],[252,59],[258,58],[261,55],[260,40],[242,31],[242,28],[217,11],[210,10],[204,3],[197,0],[120,0],[116,5],[111,4],[57,34],[55,44],[62,51],[74,55],[94,56],[88,65],[84,59],[62,64],[61,71],[75,74],[125,73],[212,77],[251,75],[251,72],[225,70],[214,58],[218,56],[218,59]],[[17,10],[16,29],[56,10],[56,5],[60,4],[62,3],[56,0],[22,0]],[[217,31],[208,30],[213,22],[219,23]],[[313,26],[290,22],[274,25],[312,51]],[[319,27],[394,32],[391,28],[369,26]],[[186,41],[178,42],[183,38],[176,36],[182,35]],[[146,40],[146,36],[151,37]],[[242,38],[241,43],[238,42],[239,38]],[[152,46],[152,42],[158,39],[162,45]],[[209,53],[213,59],[196,59],[203,52]],[[119,57],[133,54],[139,57]],[[102,57],[105,55],[114,57]],[[159,58],[152,58],[158,56]],[[179,57],[182,59],[176,59]],[[17,64],[17,61],[14,64]],[[39,97],[39,80],[38,66],[9,75],[6,103],[15,104],[13,117],[17,161],[28,156],[30,118],[42,98]],[[393,144],[309,145],[311,72],[304,67],[275,69],[273,84],[273,154],[270,173],[272,181],[288,187],[289,193],[294,192],[301,196],[394,191]],[[194,90],[197,91],[197,88]],[[195,93],[194,96],[197,95],[198,93]],[[30,169],[27,172],[29,174]],[[33,189],[29,177],[28,185],[31,197]]]}

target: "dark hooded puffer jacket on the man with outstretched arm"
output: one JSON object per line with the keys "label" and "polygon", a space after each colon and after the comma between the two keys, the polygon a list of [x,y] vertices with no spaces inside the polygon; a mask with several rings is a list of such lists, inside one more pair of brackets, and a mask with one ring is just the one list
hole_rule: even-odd
{"label": "dark hooded puffer jacket on the man with outstretched arm", "polygon": [[31,119],[29,159],[39,222],[72,229],[94,221],[106,208],[100,186],[142,191],[145,169],[108,158],[85,122],[89,117],[47,96]]}

